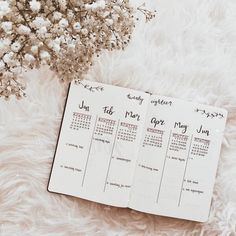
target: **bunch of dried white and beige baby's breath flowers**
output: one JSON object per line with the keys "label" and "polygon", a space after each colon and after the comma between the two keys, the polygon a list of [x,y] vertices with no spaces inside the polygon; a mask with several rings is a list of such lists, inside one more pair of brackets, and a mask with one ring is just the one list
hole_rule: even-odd
{"label": "bunch of dried white and beige baby's breath flowers", "polygon": [[0,0],[0,97],[25,96],[21,74],[40,65],[83,78],[94,56],[129,43],[133,13],[128,0]]}

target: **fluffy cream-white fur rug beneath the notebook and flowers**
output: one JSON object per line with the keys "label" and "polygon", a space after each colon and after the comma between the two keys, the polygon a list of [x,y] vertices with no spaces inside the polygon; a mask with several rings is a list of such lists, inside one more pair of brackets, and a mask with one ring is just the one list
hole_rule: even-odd
{"label": "fluffy cream-white fur rug beneath the notebook and flowers", "polygon": [[[138,5],[142,1],[133,1]],[[208,223],[106,207],[46,190],[66,85],[26,74],[28,97],[0,100],[0,235],[236,235],[236,1],[156,0],[124,51],[88,79],[224,107],[229,119]]]}

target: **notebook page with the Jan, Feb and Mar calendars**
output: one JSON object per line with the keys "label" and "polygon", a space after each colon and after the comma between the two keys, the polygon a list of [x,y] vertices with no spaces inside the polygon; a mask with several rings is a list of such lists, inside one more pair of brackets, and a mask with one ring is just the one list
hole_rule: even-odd
{"label": "notebook page with the Jan, Feb and Mar calendars", "polygon": [[149,98],[127,88],[72,82],[48,190],[127,206]]}

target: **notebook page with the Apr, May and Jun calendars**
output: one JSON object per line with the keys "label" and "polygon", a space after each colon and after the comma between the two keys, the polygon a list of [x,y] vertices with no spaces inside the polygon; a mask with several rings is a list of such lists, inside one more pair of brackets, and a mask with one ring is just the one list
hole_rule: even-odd
{"label": "notebook page with the Apr, May and Jun calendars", "polygon": [[227,112],[151,96],[129,207],[208,219]]}

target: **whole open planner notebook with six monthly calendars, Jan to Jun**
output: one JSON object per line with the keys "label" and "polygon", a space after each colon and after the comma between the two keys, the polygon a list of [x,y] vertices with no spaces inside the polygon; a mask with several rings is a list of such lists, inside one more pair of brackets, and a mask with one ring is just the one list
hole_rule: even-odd
{"label": "whole open planner notebook with six monthly calendars, Jan to Jun", "polygon": [[48,191],[207,221],[226,117],[217,107],[73,81]]}

